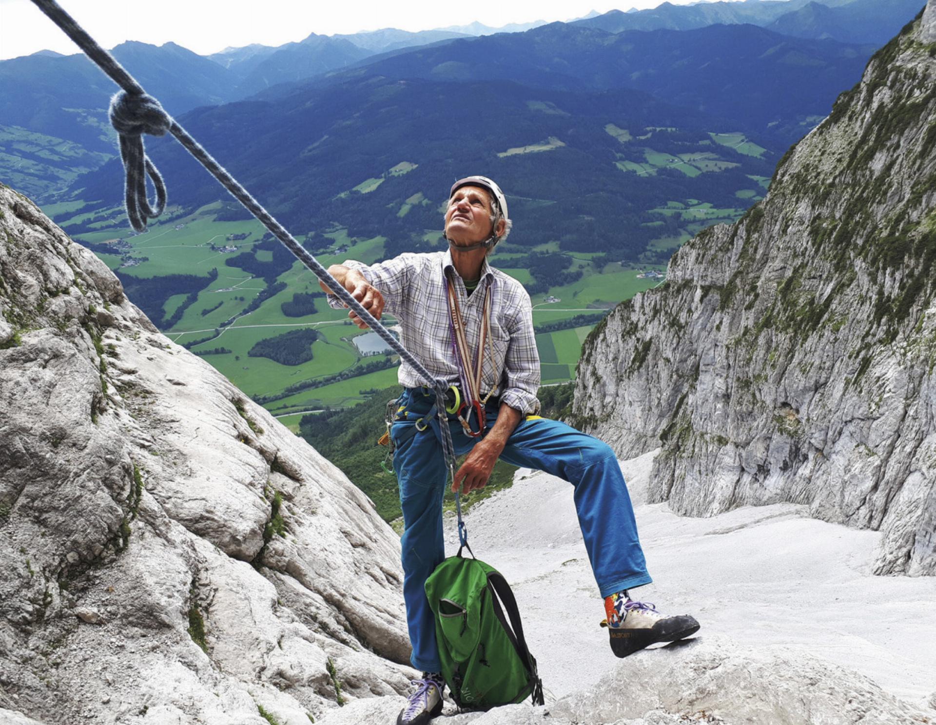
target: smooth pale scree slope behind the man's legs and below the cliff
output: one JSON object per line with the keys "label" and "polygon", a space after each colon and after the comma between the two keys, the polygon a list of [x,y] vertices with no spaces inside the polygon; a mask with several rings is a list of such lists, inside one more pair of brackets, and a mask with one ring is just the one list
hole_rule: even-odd
{"label": "smooth pale scree slope behind the man's legs and below the cliff", "polygon": [[[875,576],[870,560],[880,532],[814,520],[802,505],[691,518],[643,503],[655,455],[622,462],[654,580],[633,590],[635,598],[661,612],[694,614],[704,640],[728,639],[752,652],[788,648],[856,671],[907,701],[929,696],[936,579]],[[514,590],[553,700],[617,664],[598,626],[603,603],[568,483],[521,470],[511,488],[473,506],[465,520],[475,554]],[[454,518],[446,525],[452,555]]]}

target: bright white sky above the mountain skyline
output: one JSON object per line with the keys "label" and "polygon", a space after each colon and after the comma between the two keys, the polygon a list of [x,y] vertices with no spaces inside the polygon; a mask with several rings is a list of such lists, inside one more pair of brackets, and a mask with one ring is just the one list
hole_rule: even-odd
{"label": "bright white sky above the mountain skyline", "polygon": [[[688,5],[689,0],[671,0]],[[479,21],[566,21],[592,9],[656,7],[662,0],[59,0],[106,48],[124,40],[172,40],[201,54],[250,43],[282,45],[310,33],[333,35],[400,28],[428,30]],[[29,0],[0,0],[0,59],[77,47]]]}

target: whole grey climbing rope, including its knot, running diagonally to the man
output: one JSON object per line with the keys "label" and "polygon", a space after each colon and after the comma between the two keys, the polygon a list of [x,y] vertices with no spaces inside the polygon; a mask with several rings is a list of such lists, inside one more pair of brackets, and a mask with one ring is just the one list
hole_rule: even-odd
{"label": "whole grey climbing rope, including its knot, running diagonally to the man", "polygon": [[[408,362],[414,370],[435,391],[439,428],[442,435],[442,448],[446,457],[451,480],[455,480],[455,444],[452,441],[451,431],[448,429],[446,418],[446,392],[448,382],[442,378],[432,377],[431,373],[413,356],[396,337],[394,337],[377,318],[368,312],[351,293],[338,284],[338,280],[331,276],[328,270],[314,258],[304,247],[296,241],[282,224],[280,224],[238,181],[209,154],[200,143],[193,139],[179,123],[170,116],[159,101],[149,96],[139,82],[131,76],[117,59],[104,50],[97,41],[78,24],[55,0],[33,0],[51,22],[54,22],[66,36],[70,37],[95,65],[103,70],[111,81],[121,87],[121,91],[110,99],[110,123],[120,135],[121,158],[124,161],[126,172],[124,184],[124,202],[126,214],[133,229],[142,231],[146,229],[147,219],[153,219],[162,214],[166,208],[166,184],[159,171],[147,157],[143,148],[143,134],[164,136],[167,131],[178,140],[189,154],[195,156],[198,162],[207,169],[212,176],[223,185],[234,199],[241,202],[243,207],[269,229],[293,255],[299,259],[313,274],[331,290],[347,307],[364,320],[380,338],[395,350],[400,357]],[[146,176],[149,175],[156,192],[155,206],[151,206],[146,196]],[[458,492],[455,494],[455,507],[459,517],[459,541],[461,544],[468,540],[468,531],[461,521],[461,500]]]}

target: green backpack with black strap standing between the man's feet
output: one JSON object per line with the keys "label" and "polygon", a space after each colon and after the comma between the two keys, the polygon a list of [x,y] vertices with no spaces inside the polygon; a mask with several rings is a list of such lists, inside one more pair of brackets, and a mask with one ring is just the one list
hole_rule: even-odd
{"label": "green backpack with black strap standing between the man's feet", "polygon": [[462,710],[488,710],[531,696],[534,704],[544,703],[517,600],[499,571],[463,558],[459,549],[426,580],[426,596],[435,614],[442,673]]}

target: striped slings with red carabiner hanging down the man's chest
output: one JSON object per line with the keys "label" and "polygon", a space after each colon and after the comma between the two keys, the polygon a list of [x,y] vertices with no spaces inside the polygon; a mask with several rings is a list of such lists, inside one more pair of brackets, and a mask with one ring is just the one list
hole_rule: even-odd
{"label": "striped slings with red carabiner hanging down the man's chest", "polygon": [[[454,280],[449,279],[447,274],[443,275],[443,283],[446,287],[446,298],[448,300],[448,330],[452,340],[452,350],[455,352],[455,360],[459,366],[459,377],[461,377],[461,386],[466,398],[457,402],[454,406],[454,412],[461,423],[461,429],[466,436],[479,438],[484,435],[487,427],[484,407],[490,397],[496,394],[498,389],[497,368],[494,365],[494,343],[490,336],[490,284],[484,290],[484,304],[481,308],[481,330],[478,332],[477,354],[475,363],[471,360],[471,348],[468,347],[468,338],[465,336],[464,319],[461,317],[458,295],[455,292]],[[485,342],[488,343],[488,357],[490,368],[494,373],[494,387],[488,391],[488,394],[481,397],[481,380],[484,370],[484,349]],[[477,430],[471,427],[471,416],[475,414]]]}

